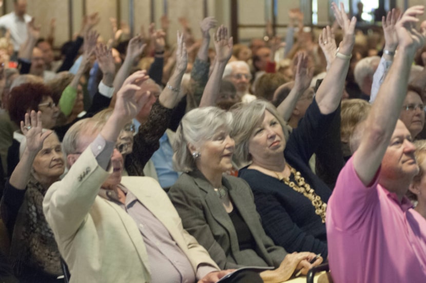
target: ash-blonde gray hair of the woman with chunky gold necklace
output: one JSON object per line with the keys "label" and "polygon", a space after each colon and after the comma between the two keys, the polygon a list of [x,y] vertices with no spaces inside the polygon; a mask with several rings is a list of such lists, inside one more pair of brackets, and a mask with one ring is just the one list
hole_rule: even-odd
{"label": "ash-blonde gray hair of the woman with chunky gold necklace", "polygon": [[249,103],[239,103],[236,107],[231,108],[234,115],[231,137],[235,140],[234,159],[238,165],[251,161],[248,143],[255,128],[263,122],[266,110],[281,124],[285,140],[288,140],[289,127],[272,103],[261,99]]}

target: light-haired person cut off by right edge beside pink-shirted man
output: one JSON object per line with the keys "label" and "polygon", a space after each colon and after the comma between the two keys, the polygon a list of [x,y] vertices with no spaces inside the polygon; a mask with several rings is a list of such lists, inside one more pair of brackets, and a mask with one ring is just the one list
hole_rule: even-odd
{"label": "light-haired person cut off by right edge beside pink-shirted man", "polygon": [[414,176],[409,187],[407,195],[416,203],[415,211],[426,218],[426,140],[418,140],[414,142],[416,146],[416,160],[419,165],[419,173]]}

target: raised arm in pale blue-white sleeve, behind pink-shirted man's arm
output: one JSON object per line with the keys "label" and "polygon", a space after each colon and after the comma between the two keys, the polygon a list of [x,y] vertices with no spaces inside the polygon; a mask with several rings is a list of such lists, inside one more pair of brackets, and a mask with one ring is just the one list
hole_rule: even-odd
{"label": "raised arm in pale blue-white sleeve, behind pink-shirted man's arm", "polygon": [[395,24],[399,16],[399,11],[396,9],[392,9],[392,11],[388,12],[386,18],[384,16],[382,17],[382,28],[385,43],[382,58],[380,59],[380,63],[377,66],[377,69],[373,75],[373,83],[371,86],[370,93],[370,103],[373,103],[376,99],[377,92],[379,92],[379,88],[383,83],[384,77],[388,73],[389,67],[394,61],[395,50],[398,46],[398,38],[396,36]]}

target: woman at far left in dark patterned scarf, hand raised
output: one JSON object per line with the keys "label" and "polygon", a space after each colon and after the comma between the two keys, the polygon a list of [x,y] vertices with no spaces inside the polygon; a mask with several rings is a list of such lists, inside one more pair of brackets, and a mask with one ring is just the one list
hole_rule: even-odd
{"label": "woman at far left in dark patterned scarf, hand raised", "polygon": [[49,186],[64,173],[65,161],[57,136],[43,132],[42,121],[41,111],[31,111],[31,118],[25,114],[21,160],[1,201],[1,216],[11,235],[10,258],[22,282],[56,282],[62,275],[60,253],[42,203]]}

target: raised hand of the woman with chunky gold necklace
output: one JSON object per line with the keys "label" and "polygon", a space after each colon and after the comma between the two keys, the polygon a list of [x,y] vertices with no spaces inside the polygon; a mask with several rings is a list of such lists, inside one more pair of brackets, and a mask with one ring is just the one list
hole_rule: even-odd
{"label": "raised hand of the woman with chunky gold necklace", "polygon": [[352,17],[352,19],[349,20],[344,11],[343,3],[340,3],[339,9],[337,4],[333,2],[332,9],[337,23],[343,30],[343,40],[339,45],[339,52],[349,56],[355,44],[355,24],[357,23],[357,19],[356,17]]}

